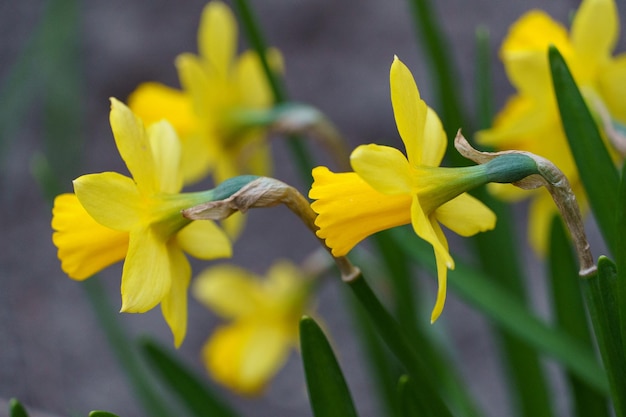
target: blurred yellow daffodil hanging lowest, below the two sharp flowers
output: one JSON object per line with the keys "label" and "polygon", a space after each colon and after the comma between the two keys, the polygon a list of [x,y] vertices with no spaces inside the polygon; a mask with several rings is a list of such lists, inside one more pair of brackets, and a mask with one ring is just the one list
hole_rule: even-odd
{"label": "blurred yellow daffodil hanging lowest, below the two sharp flowers", "polygon": [[287,261],[275,263],[265,278],[232,265],[200,274],[192,286],[194,296],[230,321],[215,330],[202,350],[212,377],[235,392],[260,393],[298,344],[309,286]]}

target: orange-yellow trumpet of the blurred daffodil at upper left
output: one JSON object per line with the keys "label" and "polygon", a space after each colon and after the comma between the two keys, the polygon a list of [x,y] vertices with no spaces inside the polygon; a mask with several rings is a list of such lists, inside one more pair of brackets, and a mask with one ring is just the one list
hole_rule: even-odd
{"label": "orange-yellow trumpet of the blurred daffodil at upper left", "polygon": [[191,104],[186,93],[156,82],[140,84],[128,97],[128,107],[146,125],[167,119],[181,137],[197,129]]}

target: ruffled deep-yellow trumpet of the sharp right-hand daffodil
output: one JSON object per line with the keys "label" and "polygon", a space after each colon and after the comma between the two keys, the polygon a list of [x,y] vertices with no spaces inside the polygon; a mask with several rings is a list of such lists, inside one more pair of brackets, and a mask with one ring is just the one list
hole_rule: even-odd
{"label": "ruffled deep-yellow trumpet of the sharp right-hand daffodil", "polygon": [[336,174],[326,167],[313,170],[309,197],[318,213],[317,236],[335,256],[347,254],[373,233],[411,221],[410,195],[381,194],[356,173]]}

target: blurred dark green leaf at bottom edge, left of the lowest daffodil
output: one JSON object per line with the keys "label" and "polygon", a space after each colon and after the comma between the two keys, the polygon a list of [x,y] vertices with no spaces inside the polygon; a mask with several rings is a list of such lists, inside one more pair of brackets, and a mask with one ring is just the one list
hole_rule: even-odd
{"label": "blurred dark green leaf at bottom edge, left of the lowest daffodil", "polygon": [[178,359],[150,339],[140,341],[140,348],[148,363],[175,393],[182,404],[197,417],[236,417],[214,392],[200,378],[187,369]]}

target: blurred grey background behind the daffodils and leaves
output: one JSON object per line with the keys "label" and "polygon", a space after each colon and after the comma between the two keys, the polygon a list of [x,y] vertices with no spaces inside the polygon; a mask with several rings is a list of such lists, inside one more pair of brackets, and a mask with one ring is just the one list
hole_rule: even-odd
{"label": "blurred grey background behind the daffodils and leaves", "polygon": [[[60,269],[51,242],[50,207],[33,175],[41,171],[42,164],[45,166],[42,153],[54,149],[63,154],[68,146],[45,139],[43,108],[50,105],[46,92],[56,82],[53,77],[39,77],[38,68],[47,65],[45,56],[38,56],[41,62],[23,66],[28,71],[20,71],[18,66],[17,75],[15,72],[16,65],[24,60],[24,51],[32,49],[33,39],[52,3],[63,2],[0,2],[0,98],[13,98],[0,103],[4,112],[0,120],[5,127],[11,127],[0,138],[0,400],[17,397],[33,410],[58,416],[84,416],[94,409],[125,417],[141,416],[142,410],[108,348],[82,284],[70,280]],[[400,146],[389,99],[388,76],[394,54],[412,70],[422,97],[434,104],[428,63],[417,42],[406,1],[254,3],[268,42],[285,57],[291,98],[327,114],[345,135],[350,149],[372,142]],[[494,100],[496,108],[500,108],[513,91],[497,59],[509,25],[533,7],[541,7],[555,19],[567,22],[579,4],[576,0],[432,3],[444,25],[449,52],[457,63],[459,85],[463,86],[458,94],[470,116],[474,116],[476,108],[476,28],[484,25],[491,35]],[[84,173],[125,172],[109,128],[108,98],[126,100],[144,81],[179,87],[173,61],[179,53],[197,51],[197,27],[205,4],[201,0],[79,2],[78,45],[82,62],[81,67],[71,70],[78,77],[80,101],[73,102],[68,97],[52,105],[78,106],[83,115],[83,144],[82,148],[67,148],[67,157],[80,158],[76,164],[80,168],[63,174],[67,182],[61,191],[71,191],[70,180]],[[624,21],[625,8],[620,6]],[[64,15],[62,11],[60,16]],[[59,32],[65,30],[62,20],[53,27]],[[621,39],[618,52],[625,49],[623,36]],[[18,79],[26,83],[17,83]],[[55,87],[63,89],[63,85]],[[13,112],[15,108],[22,111]],[[15,120],[13,115],[19,114],[24,117]],[[472,133],[471,127],[464,131]],[[327,163],[317,145],[312,144],[311,148],[316,149],[320,163]],[[302,183],[295,173],[282,139],[273,141],[273,152],[275,176],[306,193],[310,184]],[[524,210],[518,211],[520,236],[525,236]],[[316,240],[287,210],[256,210],[235,244],[232,262],[263,274],[276,258],[300,262],[317,247]],[[451,251],[462,257],[462,243],[452,240]],[[537,268],[531,254],[527,261],[528,268]],[[194,271],[199,272],[205,265],[194,264]],[[120,276],[121,266],[116,265],[98,278],[115,311],[120,307]],[[541,313],[545,306],[540,268],[533,277],[528,285]],[[315,316],[325,323],[361,415],[377,416],[380,411],[371,396],[372,381],[346,308],[349,294],[344,292],[338,277],[333,278],[322,287]],[[434,302],[432,280],[419,279],[424,292],[415,297],[424,298],[428,310]],[[384,298],[384,285],[380,288]],[[188,335],[179,353],[187,364],[204,374],[199,352],[217,319],[193,299],[189,308]],[[420,320],[428,317],[425,313]],[[171,335],[159,309],[119,318],[133,336],[149,334],[171,346]],[[491,416],[511,415],[511,404],[502,387],[502,370],[494,353],[496,341],[489,336],[487,323],[452,293],[435,326],[446,329],[450,343],[457,349],[463,376],[480,405]],[[559,381],[554,383],[558,387]],[[260,398],[241,398],[220,387],[216,389],[243,415],[311,415],[296,353]],[[4,415],[6,407],[0,401],[0,416]]]}

